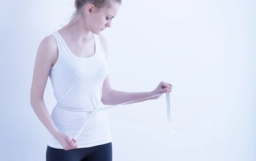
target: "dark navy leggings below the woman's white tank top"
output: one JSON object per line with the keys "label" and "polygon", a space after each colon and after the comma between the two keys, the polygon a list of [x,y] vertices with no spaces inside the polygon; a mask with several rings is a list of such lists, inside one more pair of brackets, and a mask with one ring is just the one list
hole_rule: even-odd
{"label": "dark navy leggings below the woman's white tank top", "polygon": [[112,161],[112,143],[72,150],[47,146],[46,161]]}

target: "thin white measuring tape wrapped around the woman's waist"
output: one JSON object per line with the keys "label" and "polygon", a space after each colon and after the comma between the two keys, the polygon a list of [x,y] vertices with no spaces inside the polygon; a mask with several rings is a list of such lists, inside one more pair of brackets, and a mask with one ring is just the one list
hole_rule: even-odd
{"label": "thin white measuring tape wrapped around the woman's waist", "polygon": [[[158,94],[158,95],[153,95],[153,96],[150,96],[150,97],[147,97],[147,98],[156,97],[156,96],[159,96],[159,95],[163,95],[163,93],[162,93],[162,94]],[[143,100],[143,99],[146,99],[146,98],[142,98],[142,99],[139,99],[139,100]],[[135,100],[135,101],[139,101],[139,100]],[[102,111],[102,110],[105,110],[105,109],[110,109],[110,108],[113,108],[113,107],[116,107],[116,106],[124,105],[124,104],[131,103],[131,102],[135,102],[135,101],[120,103],[120,104],[117,104],[117,105],[106,106],[106,107],[102,107],[102,108],[100,107],[100,103],[99,103],[98,106],[96,106],[95,109],[74,109],[74,108],[68,108],[68,107],[62,106],[62,105],[59,104],[59,103],[57,103],[57,106],[61,107],[62,109],[69,110],[69,111],[93,112],[93,113],[89,116],[89,118],[87,119],[87,121],[84,123],[84,125],[81,127],[81,129],[79,130],[79,132],[76,134],[76,136],[75,136],[74,139],[77,139],[77,138],[79,137],[80,133],[84,130],[84,127],[89,123],[89,121],[93,118],[93,115],[94,115],[97,111]],[[172,128],[172,122],[171,122],[171,110],[170,110],[170,95],[169,95],[169,92],[166,93],[166,106],[167,106],[167,119],[168,119],[169,125],[171,126],[172,132],[175,134],[175,132],[174,132],[174,130],[173,130],[173,128]]]}

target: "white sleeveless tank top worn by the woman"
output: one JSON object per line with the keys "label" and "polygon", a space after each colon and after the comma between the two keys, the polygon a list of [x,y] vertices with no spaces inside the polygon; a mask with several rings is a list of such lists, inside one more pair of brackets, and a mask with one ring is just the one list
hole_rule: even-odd
{"label": "white sleeveless tank top worn by the woman", "polygon": [[[74,55],[58,31],[52,33],[52,36],[58,45],[58,60],[52,67],[49,78],[57,103],[76,109],[94,109],[99,103],[103,104],[102,85],[108,75],[108,65],[99,36],[93,34],[95,53],[89,58]],[[68,111],[56,105],[51,118],[59,131],[74,138],[90,114],[91,112]],[[111,142],[106,111],[96,112],[77,141],[79,148]],[[48,145],[63,149],[52,135],[49,135]]]}

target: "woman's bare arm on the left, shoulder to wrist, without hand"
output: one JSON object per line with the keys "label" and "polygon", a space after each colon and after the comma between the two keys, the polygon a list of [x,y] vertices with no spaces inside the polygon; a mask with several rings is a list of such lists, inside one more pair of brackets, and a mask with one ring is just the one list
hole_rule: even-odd
{"label": "woman's bare arm on the left, shoulder to wrist, without hand", "polygon": [[55,38],[52,36],[45,37],[38,47],[30,91],[30,103],[35,114],[53,136],[58,133],[58,130],[44,103],[44,91],[49,72],[57,58],[58,47]]}

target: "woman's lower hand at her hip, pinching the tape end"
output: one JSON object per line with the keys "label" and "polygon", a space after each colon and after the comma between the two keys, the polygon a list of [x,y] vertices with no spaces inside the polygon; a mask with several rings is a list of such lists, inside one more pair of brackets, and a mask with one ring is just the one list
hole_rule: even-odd
{"label": "woman's lower hand at her hip, pinching the tape end", "polygon": [[56,132],[53,137],[61,144],[64,150],[71,150],[77,148],[77,141],[74,138],[70,138],[63,132]]}

